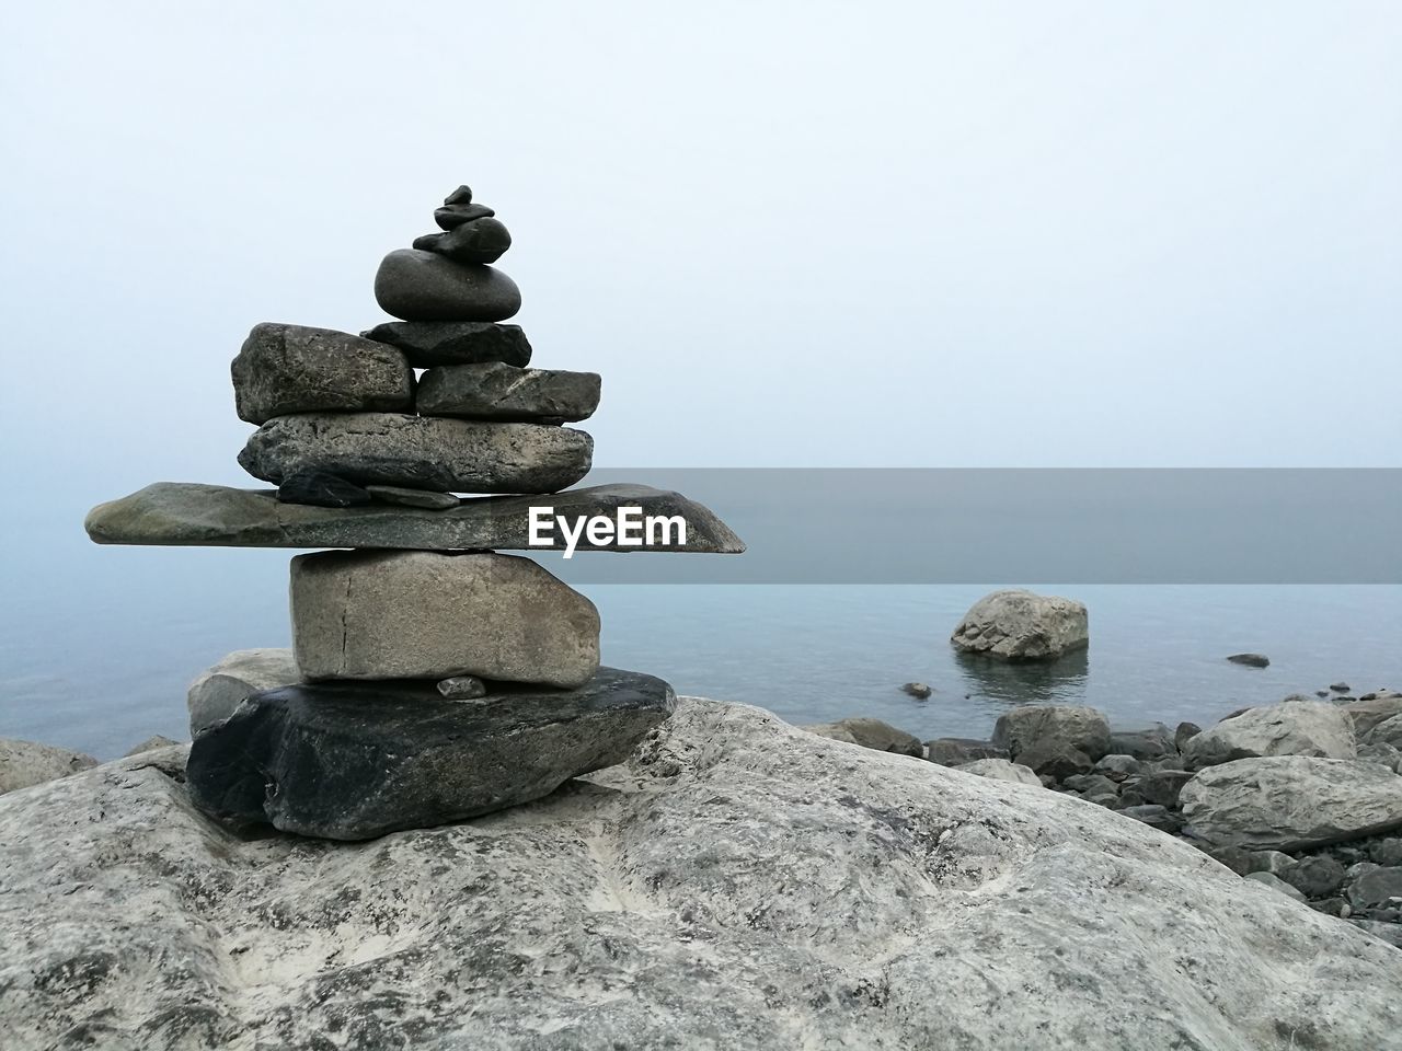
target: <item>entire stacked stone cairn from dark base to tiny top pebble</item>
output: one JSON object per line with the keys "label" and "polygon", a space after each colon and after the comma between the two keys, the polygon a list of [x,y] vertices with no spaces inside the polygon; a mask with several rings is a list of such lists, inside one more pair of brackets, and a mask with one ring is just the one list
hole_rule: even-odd
{"label": "entire stacked stone cairn from dark base to tiny top pebble", "polygon": [[292,561],[286,673],[222,671],[220,710],[192,722],[189,792],[219,818],[334,839],[430,827],[621,762],[665,720],[666,682],[600,667],[593,603],[498,554],[538,547],[531,506],[684,523],[582,549],[743,549],[677,493],[559,492],[590,469],[593,440],[564,425],[594,412],[600,377],[527,367],[524,332],[501,324],[520,291],[492,266],[512,242],[492,209],[461,186],[433,217],[442,231],[376,275],[400,321],[261,324],[234,359],[258,426],[238,462],[275,493],[165,482],[88,516],[102,544],[345,548]]}

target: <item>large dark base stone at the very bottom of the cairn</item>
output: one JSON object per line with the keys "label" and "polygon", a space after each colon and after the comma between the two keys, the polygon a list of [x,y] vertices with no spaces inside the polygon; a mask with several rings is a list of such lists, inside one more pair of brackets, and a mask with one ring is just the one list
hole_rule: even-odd
{"label": "large dark base stone at the very bottom of the cairn", "polygon": [[622,762],[674,703],[660,678],[617,668],[472,705],[428,682],[286,687],[200,736],[186,779],[220,818],[369,839],[527,803]]}

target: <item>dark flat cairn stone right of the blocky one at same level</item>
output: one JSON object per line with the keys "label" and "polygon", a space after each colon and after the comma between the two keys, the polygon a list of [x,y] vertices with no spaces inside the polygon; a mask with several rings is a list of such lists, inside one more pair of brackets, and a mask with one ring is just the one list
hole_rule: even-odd
{"label": "dark flat cairn stone right of the blocky one at same level", "polygon": [[425,416],[471,419],[582,420],[599,408],[599,373],[516,369],[499,362],[429,369],[419,385]]}

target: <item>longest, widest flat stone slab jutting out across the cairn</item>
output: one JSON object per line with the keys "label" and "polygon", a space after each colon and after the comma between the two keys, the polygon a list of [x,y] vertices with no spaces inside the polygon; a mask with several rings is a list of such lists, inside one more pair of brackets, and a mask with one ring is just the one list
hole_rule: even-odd
{"label": "longest, widest flat stone slab jutting out across the cairn", "polygon": [[[234,489],[198,482],[156,482],[88,511],[84,527],[97,544],[209,548],[407,548],[453,551],[562,549],[561,531],[550,547],[530,544],[530,509],[554,507],[557,516],[613,516],[618,507],[641,507],[645,516],[681,516],[686,544],[617,540],[579,551],[687,551],[737,555],[744,544],[708,507],[681,493],[648,485],[592,485],[550,496],[478,496],[451,510],[370,504],[311,507],[279,503],[272,489]],[[644,537],[646,541],[646,535]],[[660,537],[659,537],[660,540]]]}

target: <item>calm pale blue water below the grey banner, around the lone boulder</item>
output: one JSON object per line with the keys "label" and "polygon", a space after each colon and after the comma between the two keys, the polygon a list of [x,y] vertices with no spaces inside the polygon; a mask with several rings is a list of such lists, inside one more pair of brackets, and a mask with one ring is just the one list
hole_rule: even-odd
{"label": "calm pale blue water below the grey banner, around the lone boulder", "polygon": [[[109,758],[186,736],[185,687],[224,653],[286,646],[289,552],[66,548],[6,565],[0,737]],[[921,737],[986,736],[1026,701],[1123,724],[1210,722],[1346,681],[1402,688],[1402,587],[1039,587],[1084,601],[1091,647],[1050,667],[960,660],[948,638],[990,587],[593,586],[604,661],[789,722],[871,715]],[[1265,670],[1230,653],[1265,653]],[[934,687],[914,701],[900,684]]]}

